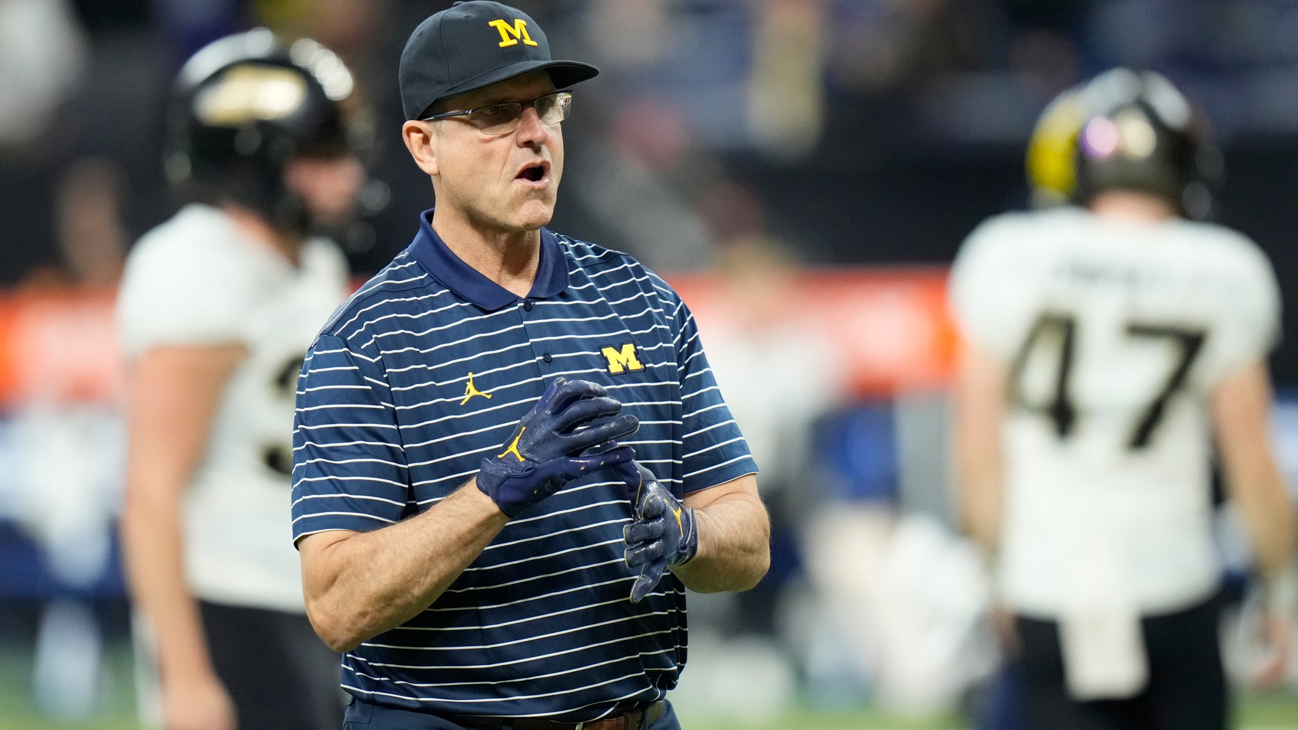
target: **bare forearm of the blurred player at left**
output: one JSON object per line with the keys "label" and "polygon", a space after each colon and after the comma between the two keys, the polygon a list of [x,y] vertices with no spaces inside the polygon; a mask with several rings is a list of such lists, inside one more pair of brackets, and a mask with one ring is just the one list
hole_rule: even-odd
{"label": "bare forearm of the blurred player at left", "polygon": [[184,573],[179,503],[129,487],[122,543],[131,595],[153,631],[164,682],[210,675],[199,604]]}

